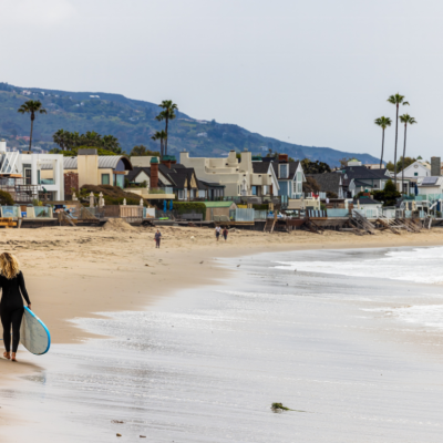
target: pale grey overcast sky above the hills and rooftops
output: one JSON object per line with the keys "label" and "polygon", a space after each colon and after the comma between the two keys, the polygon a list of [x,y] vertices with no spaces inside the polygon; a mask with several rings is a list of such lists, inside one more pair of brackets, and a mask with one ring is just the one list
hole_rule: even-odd
{"label": "pale grey overcast sky above the hills and rooftops", "polygon": [[394,119],[400,92],[419,122],[409,153],[443,156],[441,0],[0,0],[0,81],[172,99],[196,119],[373,155],[373,120]]}

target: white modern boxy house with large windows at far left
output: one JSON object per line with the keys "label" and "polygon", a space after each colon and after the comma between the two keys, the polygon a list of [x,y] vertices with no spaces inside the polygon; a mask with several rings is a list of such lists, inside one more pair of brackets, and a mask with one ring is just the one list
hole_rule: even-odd
{"label": "white modern boxy house with large windows at far left", "polygon": [[[51,177],[45,176],[48,167],[53,171]],[[7,152],[7,142],[0,141],[0,189],[10,193],[16,203],[63,199],[63,155]]]}

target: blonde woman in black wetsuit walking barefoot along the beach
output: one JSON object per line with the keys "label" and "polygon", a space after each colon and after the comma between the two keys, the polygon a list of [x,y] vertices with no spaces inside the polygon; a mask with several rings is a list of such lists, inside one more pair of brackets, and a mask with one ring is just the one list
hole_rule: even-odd
{"label": "blonde woman in black wetsuit walking barefoot along the beach", "polygon": [[[17,361],[17,348],[20,341],[20,324],[23,317],[23,299],[31,309],[28,291],[24,286],[23,274],[18,259],[9,253],[0,255],[0,318],[3,326],[3,357]],[[11,354],[11,327],[12,327],[12,354]]]}

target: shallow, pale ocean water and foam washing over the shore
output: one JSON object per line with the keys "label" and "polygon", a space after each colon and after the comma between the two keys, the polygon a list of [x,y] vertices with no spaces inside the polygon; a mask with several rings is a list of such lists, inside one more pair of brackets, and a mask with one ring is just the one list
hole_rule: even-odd
{"label": "shallow, pale ocean water and foam washing over the shore", "polygon": [[[439,261],[443,248],[219,260],[231,271],[224,284],[76,319],[112,338],[54,346],[47,370],[0,391],[25,418],[6,432],[18,442],[441,442]],[[274,413],[272,402],[293,411]]]}

